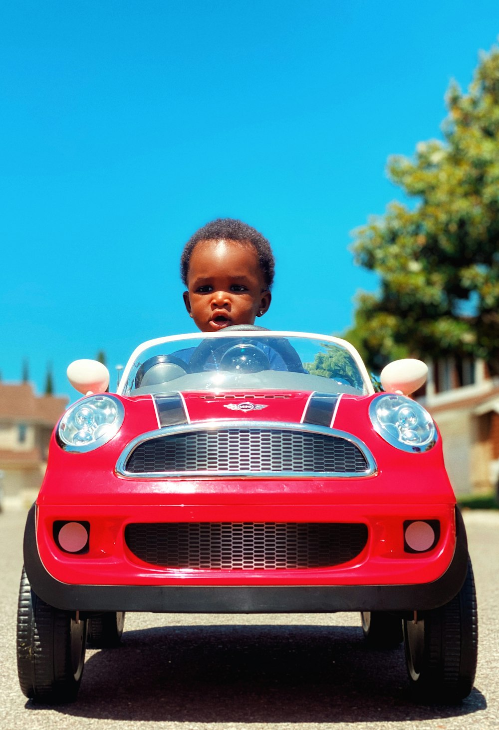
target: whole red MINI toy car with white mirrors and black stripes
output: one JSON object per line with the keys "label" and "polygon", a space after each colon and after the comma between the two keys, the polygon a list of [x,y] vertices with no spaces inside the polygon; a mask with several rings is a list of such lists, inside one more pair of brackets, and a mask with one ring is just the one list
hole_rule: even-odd
{"label": "whole red MINI toy car with white mirrors and black stripes", "polygon": [[404,641],[417,695],[470,693],[465,529],[407,397],[424,364],[376,392],[344,340],[240,326],[146,342],[117,393],[93,361],[68,373],[93,392],[56,426],[26,523],[26,696],[74,699],[85,644],[117,644],[125,611],[360,611],[372,645]]}

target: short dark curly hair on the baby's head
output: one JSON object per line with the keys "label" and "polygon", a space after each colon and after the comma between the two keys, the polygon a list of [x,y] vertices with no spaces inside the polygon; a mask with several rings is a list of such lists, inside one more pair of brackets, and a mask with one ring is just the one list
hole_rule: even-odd
{"label": "short dark curly hair on the baby's head", "polygon": [[260,264],[266,287],[268,289],[271,288],[274,283],[275,264],[271,245],[255,228],[248,226],[247,223],[243,223],[242,220],[237,220],[237,218],[217,218],[217,220],[212,220],[210,223],[206,223],[206,226],[199,228],[190,237],[180,257],[180,276],[185,286],[187,286],[190,257],[193,255],[196,244],[200,241],[217,241],[220,239],[239,241],[252,245],[258,255],[258,263]]}

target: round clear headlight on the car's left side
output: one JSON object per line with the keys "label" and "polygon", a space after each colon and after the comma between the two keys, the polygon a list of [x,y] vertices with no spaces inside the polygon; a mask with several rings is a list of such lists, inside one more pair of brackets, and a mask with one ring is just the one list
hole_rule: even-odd
{"label": "round clear headlight on the car's left side", "polygon": [[116,436],[125,418],[122,402],[113,396],[88,396],[66,410],[58,426],[67,451],[91,451]]}

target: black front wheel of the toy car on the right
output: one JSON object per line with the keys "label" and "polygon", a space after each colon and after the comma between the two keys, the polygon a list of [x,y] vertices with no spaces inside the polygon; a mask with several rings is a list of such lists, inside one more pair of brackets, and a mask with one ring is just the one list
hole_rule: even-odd
{"label": "black front wheel of the toy car on the right", "polygon": [[409,681],[418,699],[459,702],[476,671],[478,617],[473,569],[452,601],[403,621]]}

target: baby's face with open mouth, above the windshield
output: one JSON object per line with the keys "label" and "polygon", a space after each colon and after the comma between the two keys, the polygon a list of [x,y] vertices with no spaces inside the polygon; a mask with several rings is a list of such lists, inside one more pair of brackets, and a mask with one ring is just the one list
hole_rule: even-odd
{"label": "baby's face with open mouth, above the windshield", "polygon": [[253,324],[270,306],[258,255],[250,244],[231,240],[200,241],[190,257],[187,312],[201,332],[235,324]]}

